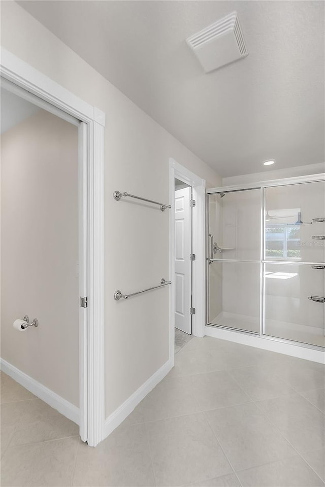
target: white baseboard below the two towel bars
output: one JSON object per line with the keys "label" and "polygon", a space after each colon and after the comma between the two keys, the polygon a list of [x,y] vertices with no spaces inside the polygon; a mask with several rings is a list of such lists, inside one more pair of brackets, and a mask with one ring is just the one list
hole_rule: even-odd
{"label": "white baseboard below the two towel bars", "polygon": [[160,369],[158,369],[151,377],[137,389],[126,401],[124,401],[112,414],[106,418],[104,426],[104,438],[107,438],[112,431],[117,428],[122,421],[134,410],[140,401],[150,392],[152,389],[163,380],[163,378],[172,369],[172,361],[168,360]]}

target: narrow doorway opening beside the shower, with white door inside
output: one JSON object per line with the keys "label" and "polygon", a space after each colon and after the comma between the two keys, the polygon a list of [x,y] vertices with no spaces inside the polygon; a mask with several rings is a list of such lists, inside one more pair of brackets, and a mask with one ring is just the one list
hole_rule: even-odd
{"label": "narrow doorway opening beside the shower, with white door inside", "polygon": [[175,178],[175,354],[192,338],[192,187]]}

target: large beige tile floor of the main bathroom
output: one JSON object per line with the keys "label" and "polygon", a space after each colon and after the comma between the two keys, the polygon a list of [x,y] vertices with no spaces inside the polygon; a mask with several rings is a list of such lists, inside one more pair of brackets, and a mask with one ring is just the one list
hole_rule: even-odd
{"label": "large beige tile floor of the main bathroom", "polygon": [[193,337],[105,441],[1,374],[1,484],[312,487],[325,481],[325,367]]}

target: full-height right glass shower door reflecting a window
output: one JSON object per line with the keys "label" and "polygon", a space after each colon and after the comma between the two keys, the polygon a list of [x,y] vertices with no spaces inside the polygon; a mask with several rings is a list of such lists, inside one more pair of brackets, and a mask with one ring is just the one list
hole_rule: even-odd
{"label": "full-height right glass shower door reflecting a window", "polygon": [[325,345],[325,182],[265,188],[264,334]]}

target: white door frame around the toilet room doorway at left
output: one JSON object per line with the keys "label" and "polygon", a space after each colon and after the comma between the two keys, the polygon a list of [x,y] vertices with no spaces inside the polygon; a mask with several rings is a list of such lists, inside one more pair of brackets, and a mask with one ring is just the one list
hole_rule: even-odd
{"label": "white door frame around the toilet room doorway at left", "polygon": [[83,259],[79,260],[79,289],[85,289],[86,285],[88,306],[82,308],[84,312],[79,312],[79,428],[81,439],[89,446],[96,446],[103,439],[105,422],[105,113],[4,48],[1,49],[0,75],[85,123],[79,130],[79,249],[83,249]]}

